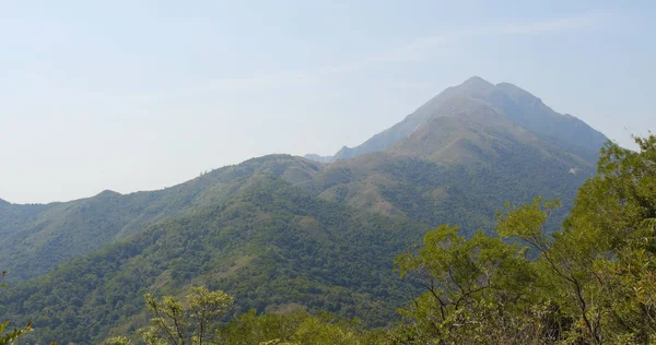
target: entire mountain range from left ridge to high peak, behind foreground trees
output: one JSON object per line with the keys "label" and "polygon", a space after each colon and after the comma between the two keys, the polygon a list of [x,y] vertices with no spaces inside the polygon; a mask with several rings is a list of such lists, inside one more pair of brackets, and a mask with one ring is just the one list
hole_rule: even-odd
{"label": "entire mountain range from left ridge to high peak, behind foreground trees", "polygon": [[[440,224],[489,230],[506,201],[572,204],[607,138],[512,84],[449,87],[332,157],[270,155],[181,185],[47,205],[0,201],[0,317],[97,342],[145,322],[147,292],[222,288],[236,311],[292,305],[380,325],[409,296],[396,254]],[[38,334],[38,336],[36,335]]]}

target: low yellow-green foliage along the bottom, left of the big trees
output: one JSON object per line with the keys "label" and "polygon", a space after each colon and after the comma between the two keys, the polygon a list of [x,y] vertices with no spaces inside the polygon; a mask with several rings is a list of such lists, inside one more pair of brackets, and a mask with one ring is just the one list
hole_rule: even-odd
{"label": "low yellow-green foliage along the bottom, left of the big trees", "polygon": [[[359,320],[344,320],[323,312],[311,314],[304,310],[290,310],[282,313],[261,313],[251,309],[229,323],[214,320],[206,324],[192,322],[194,305],[206,306],[214,316],[225,311],[232,297],[222,292],[210,293],[204,287],[196,288],[187,298],[187,306],[173,297],[162,300],[152,295],[145,296],[149,309],[155,314],[151,325],[139,330],[141,342],[147,345],[160,344],[380,344],[384,332],[367,331]],[[210,326],[210,328],[208,328]],[[211,329],[211,331],[210,331]],[[192,330],[190,335],[188,330]],[[203,334],[201,336],[201,334]],[[103,342],[105,345],[129,345],[126,336],[116,336]]]}

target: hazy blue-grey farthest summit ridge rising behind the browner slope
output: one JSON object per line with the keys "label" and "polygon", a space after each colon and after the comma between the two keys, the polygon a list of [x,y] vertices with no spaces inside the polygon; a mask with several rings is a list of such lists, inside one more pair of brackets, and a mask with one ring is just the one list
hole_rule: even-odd
{"label": "hazy blue-grey farthest summit ridge rising behind the browner slope", "polygon": [[371,152],[384,151],[415,131],[430,119],[449,112],[448,104],[456,98],[483,100],[507,118],[534,132],[544,141],[577,152],[586,159],[596,159],[598,148],[608,139],[579,119],[561,115],[546,106],[539,98],[509,83],[493,85],[478,76],[449,87],[429,100],[401,122],[372,136],[361,145],[342,147],[335,159],[349,159]]}

